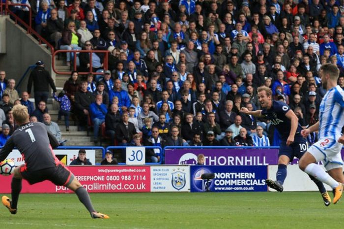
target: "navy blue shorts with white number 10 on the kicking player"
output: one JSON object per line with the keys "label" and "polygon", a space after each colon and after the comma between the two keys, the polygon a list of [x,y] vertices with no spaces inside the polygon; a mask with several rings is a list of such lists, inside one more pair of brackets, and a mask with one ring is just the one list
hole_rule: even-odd
{"label": "navy blue shorts with white number 10 on the kicking player", "polygon": [[281,142],[281,146],[278,151],[278,157],[281,155],[286,155],[290,162],[292,162],[294,157],[300,159],[302,155],[307,152],[307,149],[307,140],[302,136],[295,136],[294,142],[289,146],[286,145],[286,142]]}

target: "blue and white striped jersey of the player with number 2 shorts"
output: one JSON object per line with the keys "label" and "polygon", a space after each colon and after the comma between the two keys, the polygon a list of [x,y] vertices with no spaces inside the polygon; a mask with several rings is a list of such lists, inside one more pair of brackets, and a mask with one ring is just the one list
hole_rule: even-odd
{"label": "blue and white striped jersey of the player with number 2 shorts", "polygon": [[344,91],[337,85],[331,88],[320,103],[319,138],[338,139],[344,125]]}

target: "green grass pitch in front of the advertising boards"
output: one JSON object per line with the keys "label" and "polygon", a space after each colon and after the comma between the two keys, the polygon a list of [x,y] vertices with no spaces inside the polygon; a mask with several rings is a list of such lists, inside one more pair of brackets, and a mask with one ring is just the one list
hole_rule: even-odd
{"label": "green grass pitch in front of the advertising boards", "polygon": [[16,215],[1,206],[0,229],[317,229],[344,223],[344,201],[325,207],[317,192],[90,196],[111,219],[91,219],[73,194],[22,194]]}

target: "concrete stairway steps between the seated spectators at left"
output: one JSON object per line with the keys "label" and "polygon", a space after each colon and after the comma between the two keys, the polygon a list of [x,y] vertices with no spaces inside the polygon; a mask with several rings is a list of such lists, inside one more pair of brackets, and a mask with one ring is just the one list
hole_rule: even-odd
{"label": "concrete stairway steps between the seated spectators at left", "polygon": [[[61,60],[56,60],[56,69],[57,71],[70,71],[69,66],[65,65],[65,61],[61,58]],[[57,88],[57,93],[63,89],[63,85],[68,80],[70,75],[58,75],[56,74],[55,85]],[[47,104],[49,113],[52,117],[53,122],[57,122],[57,114],[59,110],[59,103],[54,99],[49,99]],[[93,146],[93,132],[89,132],[89,136],[87,136],[86,131],[78,131],[76,126],[77,123],[74,123],[72,117],[69,120],[69,131],[66,131],[64,126],[64,117],[62,116],[62,120],[57,122],[62,138],[66,139],[65,142],[66,146]]]}

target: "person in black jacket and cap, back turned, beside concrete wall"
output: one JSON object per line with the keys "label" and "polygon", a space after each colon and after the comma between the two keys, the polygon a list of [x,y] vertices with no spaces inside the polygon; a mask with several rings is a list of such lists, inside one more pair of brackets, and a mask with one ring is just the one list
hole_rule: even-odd
{"label": "person in black jacket and cap, back turned, beside concrete wall", "polygon": [[36,67],[30,73],[28,81],[29,94],[31,94],[32,84],[36,107],[38,107],[39,101],[48,101],[49,85],[53,89],[53,92],[56,92],[54,80],[49,71],[44,69],[43,61],[38,61]]}

